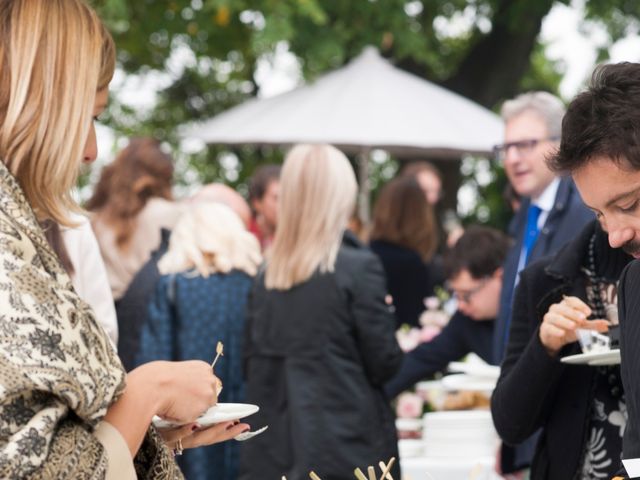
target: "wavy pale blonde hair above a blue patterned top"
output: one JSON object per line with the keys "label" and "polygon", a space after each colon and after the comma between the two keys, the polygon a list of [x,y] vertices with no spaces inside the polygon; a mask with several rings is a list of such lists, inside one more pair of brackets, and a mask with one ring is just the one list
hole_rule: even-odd
{"label": "wavy pale blonde hair above a blue patterned top", "polygon": [[253,276],[261,261],[258,239],[231,208],[196,202],[173,229],[158,269],[162,274],[195,269],[203,277],[240,270]]}

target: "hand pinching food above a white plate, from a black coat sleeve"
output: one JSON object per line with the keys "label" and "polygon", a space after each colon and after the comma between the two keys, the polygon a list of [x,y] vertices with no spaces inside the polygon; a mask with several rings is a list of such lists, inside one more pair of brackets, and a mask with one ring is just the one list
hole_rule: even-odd
{"label": "hand pinching food above a white plate, from a black coat sleeve", "polygon": [[564,297],[560,303],[554,303],[545,313],[540,325],[540,341],[551,356],[560,349],[577,341],[577,328],[606,332],[609,322],[606,320],[587,320],[591,315],[589,306],[578,297]]}

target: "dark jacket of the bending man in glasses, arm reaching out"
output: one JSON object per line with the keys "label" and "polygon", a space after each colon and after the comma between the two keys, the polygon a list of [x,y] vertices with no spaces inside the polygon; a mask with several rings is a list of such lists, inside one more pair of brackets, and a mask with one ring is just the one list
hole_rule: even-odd
{"label": "dark jacket of the bending man in glasses, arm reaching out", "polygon": [[438,336],[404,356],[400,371],[386,384],[385,392],[389,398],[394,398],[470,352],[491,363],[492,342],[493,320],[473,320],[457,311]]}

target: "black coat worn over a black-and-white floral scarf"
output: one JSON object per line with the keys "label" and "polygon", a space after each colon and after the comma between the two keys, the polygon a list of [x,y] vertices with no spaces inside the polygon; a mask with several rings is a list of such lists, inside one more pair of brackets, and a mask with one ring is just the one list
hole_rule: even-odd
{"label": "black coat worn over a black-and-white floral scarf", "polygon": [[[563,295],[586,301],[580,269],[594,229],[598,232],[596,249],[619,274],[630,257],[609,248],[607,235],[593,221],[555,257],[523,270],[515,292],[509,343],[491,398],[491,413],[500,437],[508,444],[520,443],[542,429],[531,465],[533,480],[570,480],[582,464],[595,369],[560,362],[561,357],[580,353],[577,342],[551,357],[540,341],[539,329],[544,314]],[[610,280],[617,279],[613,276]]]}

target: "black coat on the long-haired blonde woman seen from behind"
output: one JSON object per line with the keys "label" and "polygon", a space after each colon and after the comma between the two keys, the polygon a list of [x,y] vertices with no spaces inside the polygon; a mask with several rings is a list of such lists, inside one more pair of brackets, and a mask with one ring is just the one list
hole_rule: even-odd
{"label": "black coat on the long-haired blonde woman seen from behind", "polygon": [[402,352],[385,293],[375,255],[344,245],[335,272],[287,291],[267,290],[257,277],[245,358],[247,401],[260,411],[247,420],[269,429],[243,444],[240,479],[302,480],[314,470],[342,480],[397,458],[382,386]]}

